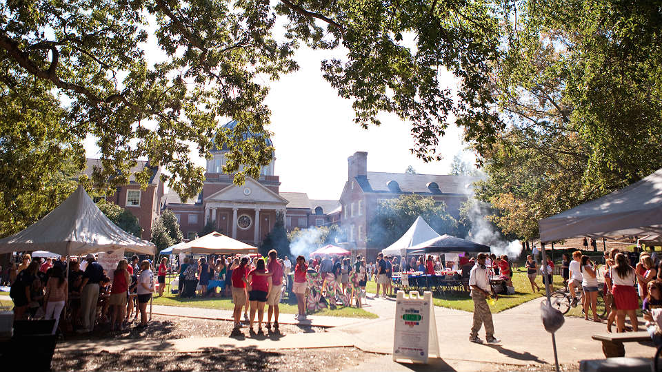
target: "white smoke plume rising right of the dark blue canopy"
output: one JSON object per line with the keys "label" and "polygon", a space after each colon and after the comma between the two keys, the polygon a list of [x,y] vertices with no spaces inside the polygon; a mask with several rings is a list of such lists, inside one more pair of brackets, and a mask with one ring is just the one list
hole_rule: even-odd
{"label": "white smoke plume rising right of the dark blue canopy", "polygon": [[476,200],[473,194],[470,196],[469,201],[471,208],[468,210],[468,218],[471,221],[471,229],[468,239],[490,246],[492,253],[497,256],[503,254],[511,258],[519,256],[522,249],[519,240],[505,240],[503,235],[499,234],[499,231],[496,231],[494,225],[485,218],[485,216],[490,214],[489,205]]}

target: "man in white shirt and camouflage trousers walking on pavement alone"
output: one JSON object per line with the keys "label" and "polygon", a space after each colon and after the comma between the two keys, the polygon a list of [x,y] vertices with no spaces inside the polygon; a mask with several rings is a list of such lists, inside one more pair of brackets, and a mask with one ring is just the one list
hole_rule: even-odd
{"label": "man in white shirt and camouflage trousers walking on pavement alone", "polygon": [[474,301],[474,322],[469,334],[469,341],[477,344],[483,343],[483,340],[478,337],[478,331],[485,324],[485,341],[488,344],[499,344],[501,341],[494,337],[492,312],[490,312],[487,302],[490,292],[492,292],[494,298],[497,298],[497,296],[492,286],[490,286],[490,274],[488,268],[485,266],[485,258],[485,254],[478,254],[476,265],[472,267],[469,274],[471,299]]}

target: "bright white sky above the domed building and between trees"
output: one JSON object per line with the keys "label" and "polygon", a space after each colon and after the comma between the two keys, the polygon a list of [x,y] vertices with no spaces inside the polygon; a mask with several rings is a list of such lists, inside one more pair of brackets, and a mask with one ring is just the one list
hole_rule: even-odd
{"label": "bright white sky above the domed building and between trees", "polygon": [[[410,153],[414,145],[410,125],[395,115],[382,115],[380,127],[361,129],[353,122],[352,102],[341,99],[322,78],[320,61],[333,57],[342,57],[342,52],[312,50],[304,45],[296,56],[300,70],[270,83],[269,130],[274,134],[274,174],[280,176],[281,192],[338,199],[347,180],[347,158],[357,151],[368,152],[370,172],[405,172],[412,165],[417,173],[448,174],[453,156],[465,147],[459,129],[450,127],[440,138],[439,149],[445,158],[432,163],[424,163]],[[445,84],[453,87],[455,82],[447,75]],[[99,157],[94,142],[94,138],[86,140],[88,157]],[[197,152],[192,157],[205,166]],[[467,152],[463,157],[472,161]]]}

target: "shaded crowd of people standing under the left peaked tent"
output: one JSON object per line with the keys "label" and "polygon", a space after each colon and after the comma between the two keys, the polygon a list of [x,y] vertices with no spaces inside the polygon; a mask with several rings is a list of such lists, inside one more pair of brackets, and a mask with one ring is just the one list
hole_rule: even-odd
{"label": "shaded crowd of people standing under the left peaked tent", "polygon": [[[69,262],[66,257],[41,262],[24,254],[14,280],[8,284],[14,319],[52,319],[53,333],[57,329],[88,333],[98,324],[110,324],[111,331],[125,329],[138,315],[137,327],[146,327],[154,274],[152,262],[139,263],[138,256],[133,256],[131,263],[119,260],[117,268],[108,273],[94,254],[82,262],[76,257]],[[131,320],[134,307],[137,311]]]}

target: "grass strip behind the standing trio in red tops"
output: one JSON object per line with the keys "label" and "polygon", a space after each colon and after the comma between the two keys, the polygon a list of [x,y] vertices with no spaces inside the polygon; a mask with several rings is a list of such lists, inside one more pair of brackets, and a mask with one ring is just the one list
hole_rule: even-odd
{"label": "grass strip behind the standing trio in red tops", "polygon": [[[234,304],[230,298],[180,298],[172,293],[166,294],[163,297],[154,297],[154,304],[167,305],[167,306],[183,306],[183,307],[203,307],[206,309],[223,309],[232,310]],[[266,311],[266,309],[265,309]],[[279,304],[279,311],[286,314],[297,313],[297,298],[285,298]],[[363,309],[356,307],[337,307],[335,310],[323,309],[313,313],[319,316],[341,316],[347,318],[377,318],[377,314],[370,313]]]}

